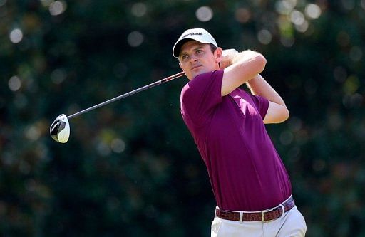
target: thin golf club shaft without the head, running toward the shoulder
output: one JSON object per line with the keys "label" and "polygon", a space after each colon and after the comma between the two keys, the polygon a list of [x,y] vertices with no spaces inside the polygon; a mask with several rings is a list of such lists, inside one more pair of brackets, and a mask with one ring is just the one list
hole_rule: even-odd
{"label": "thin golf club shaft without the head, running toward the shoulder", "polygon": [[81,111],[79,111],[79,112],[76,112],[76,113],[74,113],[73,115],[68,115],[68,116],[67,116],[67,118],[68,118],[68,119],[71,119],[72,117],[76,117],[76,116],[78,116],[78,115],[82,115],[83,113],[88,112],[88,111],[90,111],[90,110],[95,110],[95,109],[96,109],[96,108],[98,108],[98,107],[101,107],[101,106],[104,106],[104,105],[108,105],[108,104],[110,104],[111,102],[114,102],[114,101],[116,101],[116,100],[120,100],[120,99],[126,98],[127,96],[129,96],[129,95],[133,95],[133,94],[135,94],[135,93],[139,93],[140,91],[147,90],[147,89],[149,89],[149,88],[153,88],[154,86],[156,86],[156,85],[160,85],[160,84],[165,83],[165,82],[168,82],[169,80],[173,80],[173,79],[175,79],[175,78],[180,78],[180,77],[182,77],[183,75],[185,75],[185,73],[184,73],[184,72],[177,73],[177,74],[175,74],[175,75],[170,75],[170,76],[169,76],[169,77],[167,77],[167,78],[163,78],[163,79],[161,79],[161,80],[155,81],[154,83],[150,83],[150,84],[148,84],[148,85],[145,85],[145,86],[143,86],[143,87],[141,87],[141,88],[138,88],[138,89],[132,90],[132,91],[130,91],[130,92],[128,92],[128,93],[125,93],[125,94],[123,94],[123,95],[119,95],[119,96],[117,96],[117,97],[115,97],[115,98],[113,98],[113,99],[106,100],[105,102],[101,102],[101,103],[100,103],[100,104],[98,104],[98,105],[94,105],[94,106],[92,106],[92,107],[88,107],[87,109],[85,109],[85,110],[81,110]]}

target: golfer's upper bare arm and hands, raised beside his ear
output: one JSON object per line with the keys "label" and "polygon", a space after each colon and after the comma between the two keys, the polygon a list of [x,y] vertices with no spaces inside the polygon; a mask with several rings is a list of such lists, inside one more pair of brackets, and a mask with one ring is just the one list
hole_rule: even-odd
{"label": "golfer's upper bare arm and hands, raised beside his ear", "polygon": [[222,52],[220,69],[224,69],[222,80],[222,96],[228,95],[240,85],[264,70],[266,59],[255,51],[237,51],[230,49]]}

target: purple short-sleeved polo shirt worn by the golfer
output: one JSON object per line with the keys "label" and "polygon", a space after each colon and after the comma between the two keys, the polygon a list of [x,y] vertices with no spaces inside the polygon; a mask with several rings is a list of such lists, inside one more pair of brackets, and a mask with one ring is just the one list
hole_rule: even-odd
{"label": "purple short-sleeved polo shirt worn by the golfer", "polygon": [[221,209],[262,211],[292,194],[289,176],[264,127],[267,99],[236,89],[221,96],[223,70],[197,75],[180,97]]}

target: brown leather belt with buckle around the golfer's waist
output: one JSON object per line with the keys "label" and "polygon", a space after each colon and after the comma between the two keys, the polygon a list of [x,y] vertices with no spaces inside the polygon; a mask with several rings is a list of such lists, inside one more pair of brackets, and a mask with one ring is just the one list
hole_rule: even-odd
{"label": "brown leather belt with buckle around the golfer's waist", "polygon": [[264,211],[225,211],[217,207],[215,216],[230,221],[274,221],[295,206],[292,196],[273,209]]}

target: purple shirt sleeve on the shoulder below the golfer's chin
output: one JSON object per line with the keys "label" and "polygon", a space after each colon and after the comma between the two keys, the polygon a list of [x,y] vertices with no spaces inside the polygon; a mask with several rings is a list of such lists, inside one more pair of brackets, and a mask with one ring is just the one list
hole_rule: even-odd
{"label": "purple shirt sleeve on the shoulder below the golfer's chin", "polygon": [[223,70],[197,75],[181,91],[183,119],[194,127],[205,125],[214,107],[222,102]]}

